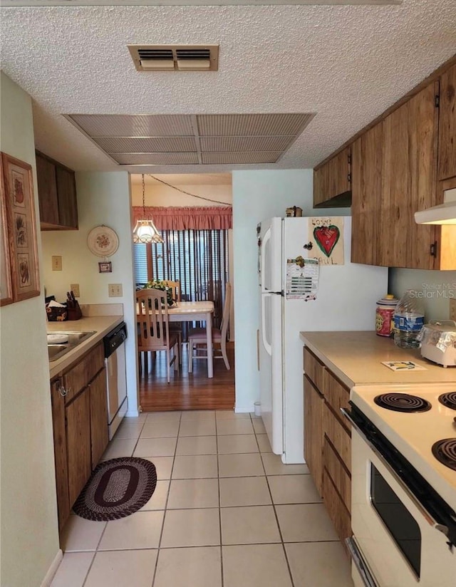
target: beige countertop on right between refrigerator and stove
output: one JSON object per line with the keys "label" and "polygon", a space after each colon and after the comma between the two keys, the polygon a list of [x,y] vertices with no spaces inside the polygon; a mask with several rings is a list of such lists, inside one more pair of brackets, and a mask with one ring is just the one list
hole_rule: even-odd
{"label": "beige countertop on right between refrigerator and stove", "polygon": [[[301,332],[301,340],[348,388],[361,383],[456,383],[456,367],[443,368],[420,355],[420,349],[399,348],[392,338],[375,332]],[[385,360],[413,360],[423,371],[393,371]]]}

